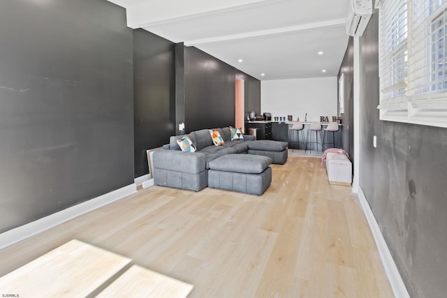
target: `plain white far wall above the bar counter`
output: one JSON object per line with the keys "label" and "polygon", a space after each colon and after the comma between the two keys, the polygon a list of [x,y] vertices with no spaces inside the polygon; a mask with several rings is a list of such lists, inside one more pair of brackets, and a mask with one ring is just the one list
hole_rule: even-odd
{"label": "plain white far wall above the bar counter", "polygon": [[261,82],[261,112],[273,117],[318,121],[337,116],[337,77],[271,80]]}

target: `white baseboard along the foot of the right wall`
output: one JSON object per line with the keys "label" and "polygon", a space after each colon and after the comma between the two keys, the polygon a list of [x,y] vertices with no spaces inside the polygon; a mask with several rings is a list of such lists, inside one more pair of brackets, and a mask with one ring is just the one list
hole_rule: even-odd
{"label": "white baseboard along the foot of the right wall", "polygon": [[390,281],[393,293],[395,297],[409,298],[410,295],[405,288],[404,281],[402,281],[399,270],[397,270],[396,263],[393,260],[393,256],[391,256],[388,246],[386,245],[386,241],[383,238],[379,224],[372,213],[371,207],[369,207],[365,194],[360,187],[357,188],[357,191],[360,204],[362,205],[363,212],[365,212],[365,216],[369,223],[369,228],[372,230],[372,234],[374,236],[374,240],[376,241],[377,248],[379,249],[379,255],[381,257],[383,267],[385,268],[388,281]]}

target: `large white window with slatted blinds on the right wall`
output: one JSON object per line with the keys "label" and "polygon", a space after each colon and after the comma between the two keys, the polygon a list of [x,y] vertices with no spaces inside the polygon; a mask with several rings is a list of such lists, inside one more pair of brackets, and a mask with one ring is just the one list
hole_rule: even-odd
{"label": "large white window with slatted blinds on the right wall", "polygon": [[[390,52],[390,48],[384,50],[384,47],[381,46],[381,43],[383,42],[382,38],[387,38],[387,36],[383,34],[385,34],[385,30],[388,29],[384,27],[384,24],[381,24],[381,19],[379,20],[379,77],[381,77],[381,92],[380,105],[377,107],[380,110],[380,119],[385,121],[447,127],[447,88],[443,87],[444,89],[441,90],[431,90],[433,71],[439,71],[439,68],[432,70],[432,64],[434,63],[432,59],[432,24],[434,24],[434,20],[436,20],[440,14],[444,13],[444,38],[447,40],[447,1],[434,0],[437,1],[437,5],[439,5],[437,10],[432,12],[430,9],[427,9],[425,15],[428,15],[428,17],[426,16],[425,19],[419,20],[416,20],[416,15],[417,13],[421,13],[416,10],[425,5],[425,3],[417,2],[420,0],[381,0],[379,13],[381,13],[383,3],[386,1],[399,1],[399,3],[404,3],[404,1],[407,2],[406,26],[408,33],[406,34],[405,54],[406,78],[395,84],[392,75],[390,75],[390,73],[385,73],[386,68],[384,67],[384,64],[386,63],[388,66],[392,65],[393,61],[390,59],[392,57],[402,58],[402,52],[400,52],[399,56],[399,50],[396,50],[396,55],[396,52],[394,52],[394,54]],[[425,1],[432,3],[433,0]],[[400,7],[399,3],[393,6],[388,5],[388,7]],[[416,4],[418,6],[416,6]],[[430,7],[429,4],[427,5],[427,7]],[[393,17],[393,20],[396,17],[397,13],[395,14],[395,17]],[[412,18],[415,20],[412,20]],[[400,19],[400,21],[402,21],[402,19]],[[416,21],[425,24],[425,27],[423,27],[425,31],[422,31],[422,33],[418,31],[421,27],[416,26]],[[424,34],[425,38],[421,38]],[[398,40],[396,39],[392,41],[397,43]],[[389,51],[388,53],[386,52],[387,50]],[[447,82],[447,41],[444,43],[443,50],[445,66],[441,69],[441,72],[444,72],[441,77],[444,76],[442,83],[444,83],[443,85],[445,86],[445,82]],[[388,60],[385,60],[384,62],[383,59]],[[435,62],[438,61],[436,60]],[[392,68],[391,71],[394,73],[394,68]],[[388,82],[384,81],[387,76]],[[390,84],[390,81],[393,81],[393,84]],[[386,84],[390,86],[386,86]],[[393,90],[395,91],[397,89],[404,89],[404,94],[402,94],[402,92],[399,96],[391,94]]]}

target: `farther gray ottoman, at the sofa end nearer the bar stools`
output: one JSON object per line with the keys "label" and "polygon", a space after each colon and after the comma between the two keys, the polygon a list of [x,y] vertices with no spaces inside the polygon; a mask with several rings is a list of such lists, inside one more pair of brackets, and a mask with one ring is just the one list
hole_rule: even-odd
{"label": "farther gray ottoman, at the sofa end nearer the bar stools", "polygon": [[287,143],[272,141],[272,140],[258,140],[248,144],[249,149],[247,154],[268,156],[272,158],[272,163],[284,165],[287,161]]}

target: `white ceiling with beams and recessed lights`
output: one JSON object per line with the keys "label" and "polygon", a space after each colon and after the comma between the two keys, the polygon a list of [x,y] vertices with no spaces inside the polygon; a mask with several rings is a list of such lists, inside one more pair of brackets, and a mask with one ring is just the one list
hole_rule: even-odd
{"label": "white ceiling with beams and recessed lights", "polygon": [[129,27],[198,47],[259,80],[335,77],[348,43],[349,0],[108,1],[126,8]]}

